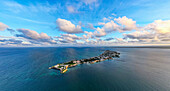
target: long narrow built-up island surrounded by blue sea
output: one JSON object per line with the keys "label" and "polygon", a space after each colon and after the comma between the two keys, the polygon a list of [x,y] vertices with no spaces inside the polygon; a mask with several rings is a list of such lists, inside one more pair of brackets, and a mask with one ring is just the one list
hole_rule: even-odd
{"label": "long narrow built-up island surrounded by blue sea", "polygon": [[119,57],[119,55],[120,53],[116,51],[106,50],[104,51],[104,53],[102,53],[99,56],[91,57],[88,59],[71,60],[69,62],[60,63],[52,67],[49,67],[49,69],[57,69],[57,70],[60,70],[61,73],[65,73],[67,71],[67,68],[75,67],[79,64],[84,64],[84,63],[94,64],[97,62],[105,61],[107,59],[112,59],[114,57]]}

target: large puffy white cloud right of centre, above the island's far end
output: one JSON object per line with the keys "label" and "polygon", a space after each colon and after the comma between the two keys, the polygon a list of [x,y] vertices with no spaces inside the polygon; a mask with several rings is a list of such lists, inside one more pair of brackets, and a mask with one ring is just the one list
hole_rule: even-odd
{"label": "large puffy white cloud right of centre, above the island's far end", "polygon": [[[108,18],[103,18],[104,21],[108,21]],[[98,25],[104,25],[102,28],[98,27],[95,32],[93,32],[93,35],[96,37],[102,37],[106,36],[108,33],[111,33],[113,31],[131,31],[131,30],[139,30],[136,26],[136,21],[133,21],[132,19],[124,17],[115,18],[113,20],[109,20],[107,23],[98,23]],[[118,25],[119,24],[119,25]]]}

